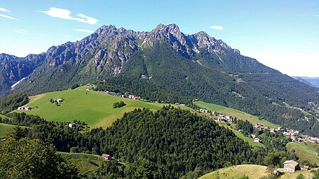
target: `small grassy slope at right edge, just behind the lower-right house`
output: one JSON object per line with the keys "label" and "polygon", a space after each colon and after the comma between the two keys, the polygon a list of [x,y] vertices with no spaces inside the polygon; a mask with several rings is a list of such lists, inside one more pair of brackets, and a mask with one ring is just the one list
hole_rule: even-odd
{"label": "small grassy slope at right edge, just behind the lower-right house", "polygon": [[287,149],[295,150],[296,156],[299,160],[308,160],[310,163],[317,163],[319,165],[319,156],[313,153],[319,154],[319,144],[313,144],[310,142],[290,142],[287,145]]}

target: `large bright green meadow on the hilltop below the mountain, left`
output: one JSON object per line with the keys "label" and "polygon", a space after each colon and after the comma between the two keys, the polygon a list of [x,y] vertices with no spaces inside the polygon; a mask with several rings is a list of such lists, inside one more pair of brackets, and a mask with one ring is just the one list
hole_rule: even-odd
{"label": "large bright green meadow on the hilltop below the mountain, left", "polygon": [[[29,115],[39,115],[45,120],[73,121],[82,120],[90,127],[111,126],[117,118],[123,116],[135,108],[150,108],[158,110],[162,103],[147,103],[141,100],[130,100],[116,96],[109,96],[96,91],[86,91],[86,86],[74,90],[55,91],[44,93],[38,96],[31,96],[30,102],[26,105],[33,110],[15,112],[26,112]],[[64,98],[60,106],[50,103],[51,98]],[[123,100],[126,104],[122,108],[113,108],[113,103]],[[176,105],[175,105],[176,106]],[[181,108],[186,108],[181,106]]]}

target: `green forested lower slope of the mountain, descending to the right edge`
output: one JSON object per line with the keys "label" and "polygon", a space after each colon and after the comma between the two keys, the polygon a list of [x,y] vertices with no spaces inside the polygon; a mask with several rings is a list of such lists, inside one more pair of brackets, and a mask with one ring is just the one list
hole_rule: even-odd
{"label": "green forested lower slope of the mountain, descending to the right edge", "polygon": [[[250,70],[258,72],[259,67],[254,68]],[[237,75],[228,75],[220,70],[209,64],[206,67],[194,60],[184,59],[161,43],[150,50],[135,52],[121,74],[105,82],[97,82],[96,90],[129,92],[164,103],[192,105],[192,100],[198,99],[242,110],[274,124],[318,136],[318,127],[314,126],[319,122],[314,117],[301,120],[305,116],[303,112],[287,108],[283,103],[306,106],[311,99],[319,103],[318,91],[310,90],[303,83],[295,84],[296,81],[289,79],[289,76],[273,69],[260,71],[260,74],[245,74],[247,71],[237,68],[234,71]],[[281,88],[283,83],[286,88]]]}

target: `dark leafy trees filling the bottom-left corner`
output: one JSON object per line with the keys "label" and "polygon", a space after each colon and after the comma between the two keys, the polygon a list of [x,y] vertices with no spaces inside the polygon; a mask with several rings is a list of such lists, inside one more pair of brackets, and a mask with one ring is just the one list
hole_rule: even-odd
{"label": "dark leafy trees filling the bottom-left corner", "polygon": [[38,139],[0,142],[0,178],[79,178],[77,168]]}

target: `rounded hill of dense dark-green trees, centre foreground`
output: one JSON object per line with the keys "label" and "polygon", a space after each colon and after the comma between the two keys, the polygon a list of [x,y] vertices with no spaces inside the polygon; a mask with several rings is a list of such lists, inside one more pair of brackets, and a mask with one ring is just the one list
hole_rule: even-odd
{"label": "rounded hill of dense dark-green trees, centre foreground", "polygon": [[[254,162],[249,144],[233,132],[187,110],[134,110],[105,131],[89,136],[121,161],[130,162],[125,177],[180,178],[206,171]],[[138,178],[138,177],[137,177]]]}

